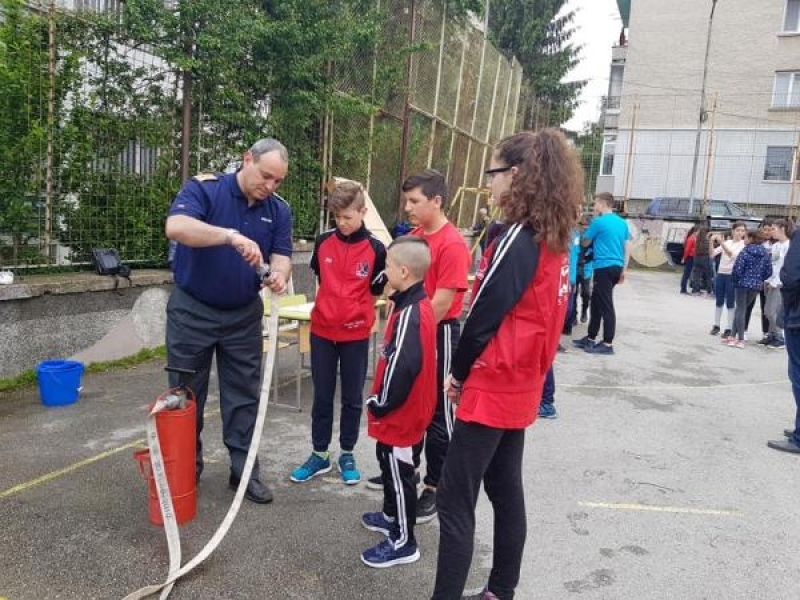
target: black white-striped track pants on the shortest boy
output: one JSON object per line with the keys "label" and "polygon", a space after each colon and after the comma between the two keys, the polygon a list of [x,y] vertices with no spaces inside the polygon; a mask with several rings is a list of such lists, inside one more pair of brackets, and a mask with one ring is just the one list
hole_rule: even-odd
{"label": "black white-striped track pants on the shortest boy", "polygon": [[414,525],[417,523],[417,486],[411,448],[399,448],[382,442],[375,444],[383,480],[383,514],[394,518],[389,539],[395,549],[416,545]]}

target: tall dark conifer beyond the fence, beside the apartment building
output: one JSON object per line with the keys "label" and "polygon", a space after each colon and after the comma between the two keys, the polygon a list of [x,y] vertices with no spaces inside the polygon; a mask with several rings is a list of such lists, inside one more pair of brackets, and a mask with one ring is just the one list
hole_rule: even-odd
{"label": "tall dark conifer beyond the fence, beside the apartment building", "polygon": [[513,55],[525,76],[523,126],[560,125],[569,120],[585,82],[564,82],[578,63],[572,42],[575,11],[562,12],[566,0],[492,0],[489,36]]}

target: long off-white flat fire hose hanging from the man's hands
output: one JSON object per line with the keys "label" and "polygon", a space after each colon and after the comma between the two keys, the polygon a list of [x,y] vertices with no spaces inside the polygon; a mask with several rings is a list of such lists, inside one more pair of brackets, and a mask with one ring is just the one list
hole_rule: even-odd
{"label": "long off-white flat fire hose hanging from the man's hands", "polygon": [[[269,265],[262,265],[258,269],[258,274],[262,280],[269,277]],[[268,288],[264,288],[265,293]],[[131,594],[125,596],[123,600],[139,600],[161,592],[160,600],[166,600],[172,591],[175,582],[193,570],[197,565],[207,559],[212,552],[217,548],[222,539],[228,533],[234,519],[239,512],[239,507],[242,505],[242,498],[244,497],[247,484],[250,482],[250,474],[253,471],[253,465],[258,455],[258,446],[261,441],[261,432],[264,429],[264,421],[267,416],[267,405],[269,403],[269,390],[270,382],[272,381],[272,372],[275,367],[275,354],[278,349],[278,336],[275,333],[278,331],[278,295],[275,292],[268,292],[270,302],[269,312],[269,342],[267,346],[268,358],[264,366],[264,376],[261,381],[261,396],[258,403],[258,414],[256,415],[256,423],[253,427],[253,438],[250,442],[250,448],[247,451],[247,459],[244,463],[241,478],[239,479],[239,487],[236,488],[236,495],[233,497],[233,502],[228,509],[222,523],[214,532],[214,535],[206,543],[200,552],[187,562],[182,567],[181,564],[181,538],[178,532],[178,522],[175,518],[175,512],[172,506],[172,496],[169,491],[169,484],[167,483],[166,471],[164,469],[164,457],[161,454],[161,445],[158,441],[158,432],[156,430],[156,414],[162,410],[172,408],[166,403],[168,394],[165,394],[156,400],[152,410],[147,419],[147,445],[150,448],[150,461],[152,464],[153,478],[156,483],[156,491],[158,493],[158,501],[161,506],[161,514],[164,519],[164,533],[167,536],[167,546],[169,548],[169,573],[167,579],[163,583],[149,585],[143,587]]]}

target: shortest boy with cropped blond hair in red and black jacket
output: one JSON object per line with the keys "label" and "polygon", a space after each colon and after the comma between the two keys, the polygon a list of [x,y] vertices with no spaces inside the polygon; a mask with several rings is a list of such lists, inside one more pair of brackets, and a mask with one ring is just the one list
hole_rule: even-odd
{"label": "shortest boy with cropped blond hair in red and black jacket", "polygon": [[419,559],[413,447],[422,441],[436,407],[436,319],[423,287],[430,263],[430,249],[420,237],[400,237],[389,246],[386,276],[396,290],[391,296],[394,312],[367,399],[368,432],[377,440],[383,480],[383,510],[361,517],[364,527],[387,539],[361,554],[370,567]]}

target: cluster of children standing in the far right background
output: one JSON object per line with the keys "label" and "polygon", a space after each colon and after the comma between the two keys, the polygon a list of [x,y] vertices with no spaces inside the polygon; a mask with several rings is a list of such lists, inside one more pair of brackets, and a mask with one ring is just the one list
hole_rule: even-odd
{"label": "cluster of children standing in the far right background", "polygon": [[[759,344],[773,349],[785,346],[782,323],[780,270],[789,250],[793,225],[787,219],[764,220],[757,231],[748,231],[740,221],[729,235],[709,232],[700,227],[687,241],[695,248],[692,281],[694,293],[711,285],[716,298],[711,335],[722,333],[722,343],[743,349],[750,314],[760,297],[763,338]],[[683,292],[683,290],[682,290]],[[727,309],[727,327],[722,330],[723,308]]]}

